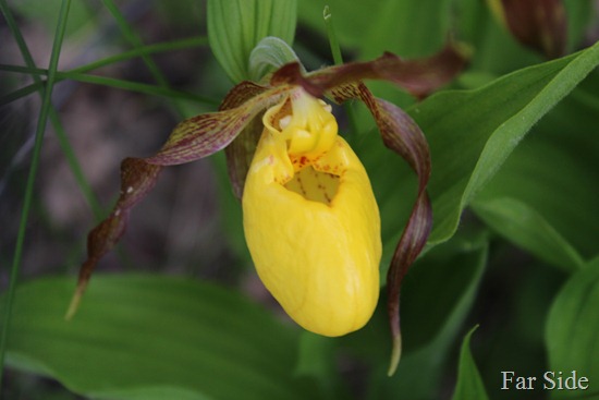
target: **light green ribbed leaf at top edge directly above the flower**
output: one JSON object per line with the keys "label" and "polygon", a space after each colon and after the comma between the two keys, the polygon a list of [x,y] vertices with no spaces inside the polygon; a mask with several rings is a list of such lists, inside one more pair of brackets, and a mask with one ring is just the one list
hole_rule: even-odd
{"label": "light green ribbed leaf at top edge directly above the flower", "polygon": [[208,0],[208,41],[233,82],[250,78],[249,54],[262,38],[292,44],[296,8],[295,0]]}

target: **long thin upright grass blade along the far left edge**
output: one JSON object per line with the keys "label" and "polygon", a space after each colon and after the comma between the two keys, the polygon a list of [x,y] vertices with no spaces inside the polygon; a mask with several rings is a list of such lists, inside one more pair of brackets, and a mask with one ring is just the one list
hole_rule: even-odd
{"label": "long thin upright grass blade along the far left edge", "polygon": [[[71,0],[62,0],[59,13],[59,20],[57,25],[57,33],[52,45],[52,52],[50,56],[50,64],[48,68],[48,81],[46,89],[44,90],[44,100],[41,102],[41,109],[39,111],[39,119],[37,121],[37,128],[35,133],[35,145],[32,156],[32,163],[29,167],[29,173],[27,175],[27,183],[25,186],[25,196],[23,199],[23,210],[21,213],[21,222],[19,225],[19,233],[16,235],[16,245],[14,250],[14,258],[12,263],[11,276],[9,281],[9,290],[7,293],[4,317],[2,322],[2,332],[0,337],[0,388],[2,387],[2,376],[4,369],[4,359],[7,352],[9,327],[11,325],[12,308],[14,304],[16,283],[19,281],[19,272],[21,269],[21,259],[23,256],[23,246],[25,243],[25,234],[27,230],[27,220],[29,218],[29,209],[32,208],[32,202],[34,197],[34,183],[39,167],[39,156],[41,154],[41,146],[44,144],[44,132],[46,131],[46,123],[48,121],[48,114],[51,106],[52,88],[56,80],[56,72],[58,68],[58,60],[60,57],[60,49],[62,40],[64,38],[64,32],[66,28],[66,19],[69,15],[69,8]],[[2,13],[7,17],[7,21],[14,20],[9,11],[8,4],[4,0],[0,0],[0,8]]]}

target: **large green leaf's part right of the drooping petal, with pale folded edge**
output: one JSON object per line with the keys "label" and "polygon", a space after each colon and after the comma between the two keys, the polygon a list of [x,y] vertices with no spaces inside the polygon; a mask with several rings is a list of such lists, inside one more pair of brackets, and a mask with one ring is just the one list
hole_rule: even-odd
{"label": "large green leaf's part right of the drooping petal, with pale folded edge", "polygon": [[480,89],[440,93],[408,110],[431,150],[428,187],[436,218],[431,243],[451,238],[464,207],[530,128],[598,64],[599,43]]}

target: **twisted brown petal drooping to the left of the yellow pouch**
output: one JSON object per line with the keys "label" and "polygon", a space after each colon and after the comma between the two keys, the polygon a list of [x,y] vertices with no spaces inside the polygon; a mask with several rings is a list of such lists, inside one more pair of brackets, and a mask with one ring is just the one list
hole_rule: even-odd
{"label": "twisted brown petal drooping to the left of the yellow pouch", "polygon": [[87,259],[80,270],[77,288],[66,318],[78,306],[91,272],[100,258],[123,235],[131,209],[155,186],[163,166],[190,162],[229,145],[264,108],[284,95],[286,87],[266,88],[250,82],[235,86],[224,98],[221,111],[190,118],[175,126],[160,151],[149,158],[126,158],[121,165],[121,195],[110,216],[87,238]]}

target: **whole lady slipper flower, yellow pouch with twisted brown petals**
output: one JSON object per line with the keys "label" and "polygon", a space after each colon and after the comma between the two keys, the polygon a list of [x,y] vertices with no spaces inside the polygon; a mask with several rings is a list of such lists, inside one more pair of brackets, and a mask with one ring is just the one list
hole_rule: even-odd
{"label": "whole lady slipper flower, yellow pouch with twisted brown petals", "polygon": [[[247,245],[268,290],[293,319],[314,332],[340,336],[363,327],[379,295],[379,213],[364,167],[338,135],[330,106],[318,97],[337,102],[358,99],[372,114],[387,147],[418,177],[417,196],[387,275],[391,374],[401,354],[401,283],[431,229],[426,191],[430,154],[412,118],[375,97],[363,80],[384,80],[424,97],[454,76],[464,61],[450,44],[424,60],[384,53],[308,74],[298,62],[290,62],[268,82],[239,83],[218,111],[178,124],[156,155],[123,160],[119,199],[89,232],[87,258],[66,317],[76,312],[94,268],[123,235],[131,210],[152,190],[162,168],[225,149],[233,191],[243,203]],[[255,122],[266,109],[256,147],[262,126]]]}

